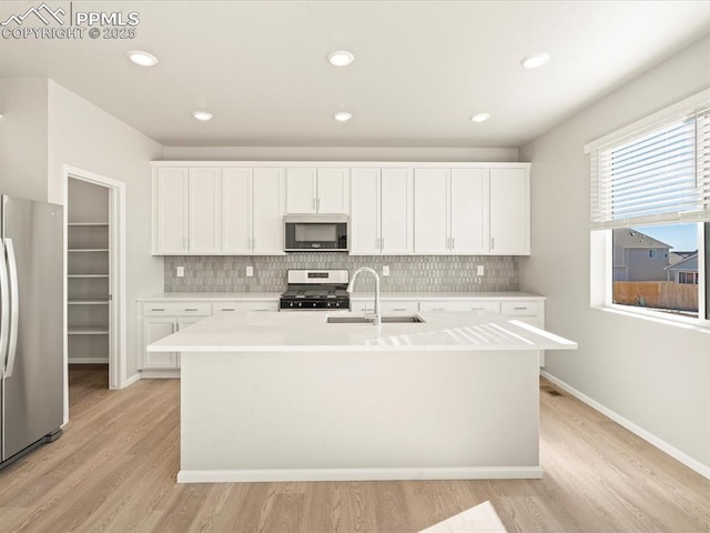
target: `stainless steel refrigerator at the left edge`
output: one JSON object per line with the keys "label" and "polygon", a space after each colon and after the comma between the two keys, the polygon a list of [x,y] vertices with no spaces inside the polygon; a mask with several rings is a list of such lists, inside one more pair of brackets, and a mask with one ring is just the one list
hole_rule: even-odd
{"label": "stainless steel refrigerator at the left edge", "polygon": [[62,209],[0,195],[0,467],[61,435]]}

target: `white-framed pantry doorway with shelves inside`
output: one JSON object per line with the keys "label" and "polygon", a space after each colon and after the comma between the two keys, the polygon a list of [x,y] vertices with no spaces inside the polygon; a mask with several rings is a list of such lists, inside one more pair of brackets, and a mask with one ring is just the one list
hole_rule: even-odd
{"label": "white-framed pantry doorway with shelves inside", "polygon": [[[109,389],[126,386],[125,184],[64,167],[67,356],[72,370],[102,365]],[[72,372],[77,375],[77,372]],[[69,419],[69,390],[64,396]]]}

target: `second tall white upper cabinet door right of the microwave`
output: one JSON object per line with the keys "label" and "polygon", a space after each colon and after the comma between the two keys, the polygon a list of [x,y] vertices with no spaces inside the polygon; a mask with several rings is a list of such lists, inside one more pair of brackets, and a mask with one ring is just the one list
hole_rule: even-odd
{"label": "second tall white upper cabinet door right of the microwave", "polygon": [[413,183],[408,169],[382,169],[379,228],[382,253],[412,253]]}

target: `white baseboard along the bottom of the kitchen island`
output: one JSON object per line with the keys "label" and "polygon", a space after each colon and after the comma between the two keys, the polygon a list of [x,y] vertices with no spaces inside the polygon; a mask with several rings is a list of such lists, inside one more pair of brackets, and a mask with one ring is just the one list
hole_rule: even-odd
{"label": "white baseboard along the bottom of the kitchen island", "polygon": [[181,470],[178,483],[253,483],[286,481],[540,480],[541,466]]}

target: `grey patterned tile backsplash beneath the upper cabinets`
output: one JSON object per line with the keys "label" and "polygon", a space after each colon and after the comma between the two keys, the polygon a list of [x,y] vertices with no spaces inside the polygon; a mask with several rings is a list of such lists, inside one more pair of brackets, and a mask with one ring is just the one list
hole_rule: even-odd
{"label": "grey patterned tile backsplash beneath the upper cabinets", "polygon": [[[485,275],[476,276],[483,264]],[[382,268],[389,266],[389,275]],[[178,266],[185,275],[178,278]],[[246,276],[246,266],[254,275]],[[345,269],[361,266],[381,273],[383,292],[487,292],[518,290],[518,258],[494,255],[348,255],[345,253],[290,253],[286,255],[171,255],[164,258],[165,292],[283,292],[290,269]],[[355,291],[372,291],[372,276],[358,276]]]}

